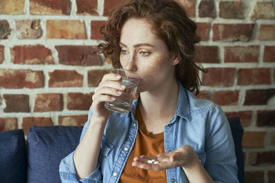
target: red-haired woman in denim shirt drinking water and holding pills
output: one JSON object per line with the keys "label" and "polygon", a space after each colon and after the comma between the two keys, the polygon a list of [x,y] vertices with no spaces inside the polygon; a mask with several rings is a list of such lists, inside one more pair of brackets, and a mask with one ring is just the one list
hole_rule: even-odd
{"label": "red-haired woman in denim shirt drinking water and holding pills", "polygon": [[192,94],[196,28],[170,0],[126,0],[111,12],[100,52],[140,75],[139,95],[128,114],[107,110],[125,87],[104,75],[80,143],[61,161],[63,182],[238,182],[225,115]]}

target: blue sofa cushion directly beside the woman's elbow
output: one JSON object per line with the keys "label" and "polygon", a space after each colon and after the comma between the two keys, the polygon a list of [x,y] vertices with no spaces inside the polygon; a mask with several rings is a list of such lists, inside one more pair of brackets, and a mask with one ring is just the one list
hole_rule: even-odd
{"label": "blue sofa cushion directly beside the woman's elbow", "polygon": [[83,127],[32,126],[28,132],[28,182],[61,182],[61,160],[74,151]]}

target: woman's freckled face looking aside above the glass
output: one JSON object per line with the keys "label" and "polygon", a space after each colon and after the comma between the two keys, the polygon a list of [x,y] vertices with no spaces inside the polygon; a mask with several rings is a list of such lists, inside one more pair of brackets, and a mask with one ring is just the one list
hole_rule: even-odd
{"label": "woman's freckled face looking aside above the glass", "polygon": [[129,19],[120,35],[120,64],[140,75],[137,92],[158,90],[175,79],[178,59],[168,51],[165,42],[153,34],[146,19]]}

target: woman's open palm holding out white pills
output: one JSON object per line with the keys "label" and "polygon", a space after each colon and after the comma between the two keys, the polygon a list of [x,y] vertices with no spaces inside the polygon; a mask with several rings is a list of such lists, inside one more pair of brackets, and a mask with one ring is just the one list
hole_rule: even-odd
{"label": "woman's open palm holding out white pills", "polygon": [[[148,163],[148,160],[155,160],[158,163]],[[173,169],[175,167],[189,167],[199,158],[189,145],[183,145],[175,151],[168,151],[166,153],[158,154],[157,156],[139,156],[133,158],[132,166],[141,169],[161,171],[166,169]]]}

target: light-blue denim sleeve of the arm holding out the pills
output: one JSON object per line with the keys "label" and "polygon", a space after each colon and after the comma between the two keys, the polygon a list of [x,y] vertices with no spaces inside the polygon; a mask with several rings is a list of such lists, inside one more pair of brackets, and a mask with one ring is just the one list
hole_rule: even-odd
{"label": "light-blue denim sleeve of the arm holding out the pills", "polygon": [[228,119],[219,106],[208,119],[206,171],[214,182],[239,182],[234,141]]}

